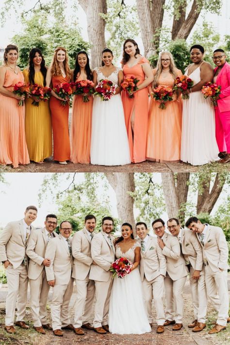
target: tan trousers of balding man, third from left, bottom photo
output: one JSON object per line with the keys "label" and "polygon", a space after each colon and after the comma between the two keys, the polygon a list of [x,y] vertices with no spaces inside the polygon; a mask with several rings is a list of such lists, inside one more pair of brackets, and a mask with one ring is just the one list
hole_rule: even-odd
{"label": "tan trousers of balding man, third from left, bottom photo", "polygon": [[61,329],[68,326],[69,302],[73,293],[73,279],[70,278],[68,285],[57,285],[53,287],[52,300],[50,303],[50,312],[52,318],[52,329]]}

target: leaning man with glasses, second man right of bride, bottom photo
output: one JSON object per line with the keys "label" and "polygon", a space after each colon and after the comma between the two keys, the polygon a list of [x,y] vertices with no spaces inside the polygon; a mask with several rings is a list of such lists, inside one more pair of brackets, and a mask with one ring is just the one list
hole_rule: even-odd
{"label": "leaning man with glasses, second man right of bride, bottom photo", "polygon": [[173,330],[180,330],[183,327],[183,287],[188,269],[181,254],[178,239],[165,232],[164,220],[161,218],[154,220],[152,228],[166,258],[166,277],[164,278],[166,321],[164,326],[174,325]]}

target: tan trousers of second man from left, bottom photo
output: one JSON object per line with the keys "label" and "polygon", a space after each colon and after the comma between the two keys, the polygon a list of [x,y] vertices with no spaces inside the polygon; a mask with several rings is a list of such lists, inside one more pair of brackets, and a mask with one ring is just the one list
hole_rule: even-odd
{"label": "tan trousers of second man from left, bottom photo", "polygon": [[33,326],[41,327],[48,323],[46,305],[50,286],[46,279],[45,268],[37,279],[30,279],[30,287]]}

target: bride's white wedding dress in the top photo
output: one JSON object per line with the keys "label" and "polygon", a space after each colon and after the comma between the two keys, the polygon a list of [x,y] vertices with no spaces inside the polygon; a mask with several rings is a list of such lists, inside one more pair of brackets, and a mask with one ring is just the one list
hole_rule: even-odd
{"label": "bride's white wedding dress in the top photo", "polygon": [[[105,77],[99,68],[95,68],[99,82],[108,79],[117,87],[119,68],[109,77]],[[124,110],[120,94],[103,101],[94,97],[92,114],[92,134],[90,148],[91,164],[123,165],[130,164],[130,148],[125,127]]]}

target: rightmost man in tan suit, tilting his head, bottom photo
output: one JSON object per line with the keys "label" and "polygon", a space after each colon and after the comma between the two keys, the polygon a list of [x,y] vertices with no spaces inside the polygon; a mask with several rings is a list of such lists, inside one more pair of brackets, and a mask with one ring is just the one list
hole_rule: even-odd
{"label": "rightmost man in tan suit, tilting his head, bottom photo", "polygon": [[196,233],[203,250],[207,296],[218,312],[216,324],[209,334],[218,333],[226,329],[227,322],[230,321],[227,241],[221,228],[202,224],[197,217],[190,217],[185,225]]}

